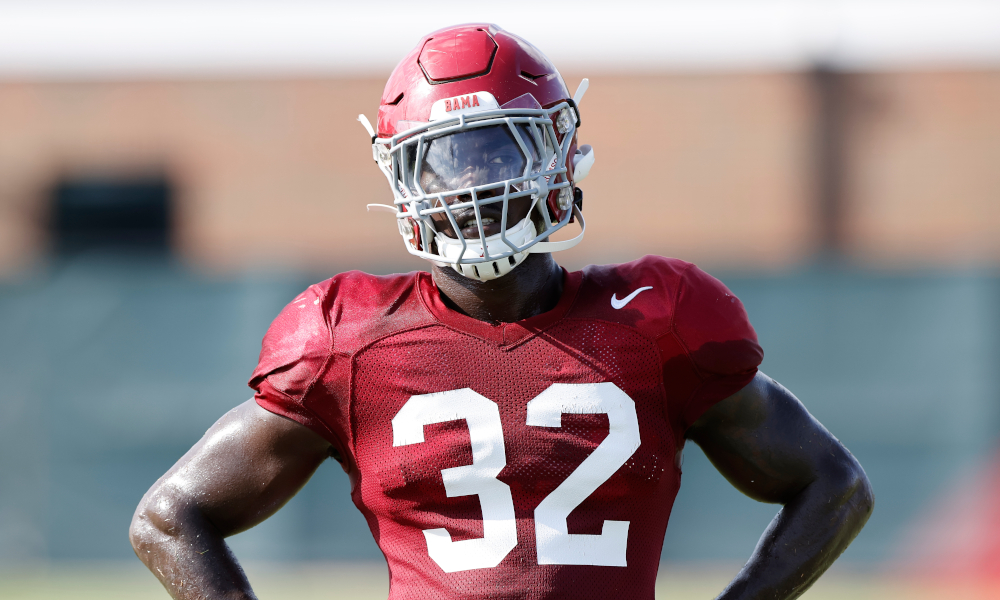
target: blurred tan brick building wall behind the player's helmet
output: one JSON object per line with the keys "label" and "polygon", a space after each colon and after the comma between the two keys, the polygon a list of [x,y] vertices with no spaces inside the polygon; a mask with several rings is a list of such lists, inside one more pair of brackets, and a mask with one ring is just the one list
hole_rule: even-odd
{"label": "blurred tan brick building wall behind the player's helmet", "polygon": [[[566,79],[574,89],[580,78]],[[564,262],[1000,261],[1000,71],[818,81],[591,76],[580,132],[597,155],[581,186],[590,231]],[[389,217],[364,208],[389,199],[355,122],[374,115],[382,83],[0,83],[0,276],[50,252],[53,190],[88,178],[165,181],[171,246],[209,272],[423,268],[404,262]]]}

